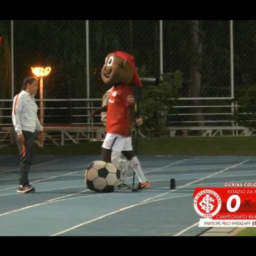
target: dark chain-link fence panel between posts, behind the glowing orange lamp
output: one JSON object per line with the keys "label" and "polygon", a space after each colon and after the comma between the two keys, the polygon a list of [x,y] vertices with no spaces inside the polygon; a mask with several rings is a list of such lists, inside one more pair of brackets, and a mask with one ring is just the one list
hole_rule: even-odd
{"label": "dark chain-link fence panel between posts, behind the glowing orange lamp", "polygon": [[86,97],[86,26],[83,21],[14,21],[15,93],[31,67],[51,66],[44,98]]}

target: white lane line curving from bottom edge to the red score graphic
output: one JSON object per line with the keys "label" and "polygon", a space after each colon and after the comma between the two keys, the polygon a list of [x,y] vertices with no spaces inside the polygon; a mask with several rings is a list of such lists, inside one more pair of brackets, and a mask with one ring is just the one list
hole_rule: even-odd
{"label": "white lane line curving from bottom edge to the red score graphic", "polygon": [[[114,211],[114,212],[109,212],[108,214],[104,214],[103,216],[99,216],[99,217],[97,217],[97,218],[95,218],[95,219],[91,219],[91,220],[89,220],[89,221],[85,221],[85,222],[83,222],[83,223],[80,223],[80,224],[78,224],[78,225],[75,225],[75,226],[73,226],[73,227],[70,227],[69,229],[65,229],[64,231],[57,232],[57,233],[55,233],[55,234],[52,234],[51,236],[58,236],[59,234],[63,234],[63,233],[65,233],[65,232],[72,231],[73,229],[77,229],[78,227],[82,227],[82,226],[87,225],[87,224],[89,224],[89,223],[92,223],[92,222],[94,222],[94,221],[98,221],[99,219],[103,219],[104,217],[108,217],[108,216],[111,216],[111,215],[113,215],[113,214],[117,214],[118,212],[123,212],[123,211],[125,211],[125,210],[134,208],[134,207],[136,207],[136,206],[140,206],[140,205],[143,205],[143,204],[150,204],[150,203],[152,203],[152,202],[157,202],[157,201],[160,201],[160,200],[176,199],[176,198],[180,198],[180,197],[190,197],[190,196],[191,196],[191,195],[182,195],[182,196],[178,196],[178,197],[168,197],[168,198],[166,198],[166,199],[156,199],[156,200],[151,200],[151,201],[149,201],[149,202],[139,202],[138,204],[132,204],[132,205],[130,205],[130,206],[126,206],[126,207],[121,208],[121,209],[119,209],[119,210],[116,210],[116,211]],[[0,216],[1,216],[1,215],[0,215]]]}

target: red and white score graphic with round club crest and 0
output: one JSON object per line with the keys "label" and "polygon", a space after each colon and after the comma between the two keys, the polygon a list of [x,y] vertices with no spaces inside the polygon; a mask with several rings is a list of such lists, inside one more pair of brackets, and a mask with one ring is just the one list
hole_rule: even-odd
{"label": "red and white score graphic with round club crest and 0", "polygon": [[193,199],[199,227],[256,227],[256,183],[196,187]]}

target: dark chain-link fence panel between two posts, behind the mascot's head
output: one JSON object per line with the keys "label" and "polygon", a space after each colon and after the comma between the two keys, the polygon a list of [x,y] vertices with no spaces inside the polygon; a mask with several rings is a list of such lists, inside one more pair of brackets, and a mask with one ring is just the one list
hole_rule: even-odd
{"label": "dark chain-link fence panel between two posts, behind the mascot's head", "polygon": [[159,76],[159,21],[100,20],[89,22],[91,98],[101,98],[108,86],[101,79],[104,59],[121,50],[135,56],[142,76]]}

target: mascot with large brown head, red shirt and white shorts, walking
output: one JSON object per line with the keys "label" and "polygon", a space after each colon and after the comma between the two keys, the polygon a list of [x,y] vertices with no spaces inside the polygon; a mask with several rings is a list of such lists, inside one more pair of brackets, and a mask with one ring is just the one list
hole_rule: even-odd
{"label": "mascot with large brown head, red shirt and white shorts, walking", "polygon": [[150,187],[144,176],[140,161],[135,155],[131,140],[131,129],[136,121],[142,125],[142,118],[135,118],[135,99],[129,84],[138,88],[142,83],[136,71],[135,58],[127,52],[112,52],[106,56],[101,69],[101,78],[112,86],[108,95],[108,104],[101,112],[106,112],[106,137],[102,146],[103,161],[111,163],[112,151],[121,152],[138,176],[138,185],[133,191]]}

